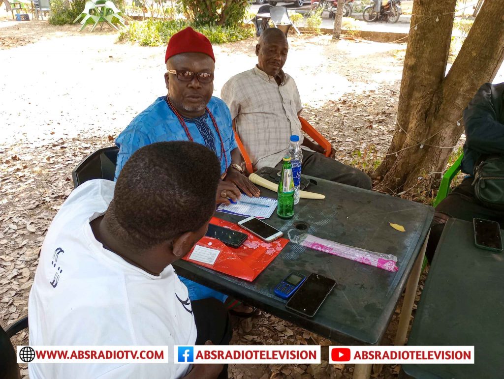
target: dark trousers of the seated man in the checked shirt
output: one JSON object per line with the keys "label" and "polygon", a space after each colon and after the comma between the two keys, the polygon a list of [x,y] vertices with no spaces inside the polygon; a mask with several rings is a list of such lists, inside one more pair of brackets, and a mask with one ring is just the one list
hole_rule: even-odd
{"label": "dark trousers of the seated man in the checked shirt", "polygon": [[[347,184],[353,187],[371,189],[371,178],[369,178],[362,171],[353,167],[344,165],[332,158],[315,153],[314,151],[303,151],[303,162],[301,163],[301,174],[314,176],[320,179],[330,180]],[[280,162],[275,168],[280,170],[282,168]]]}

